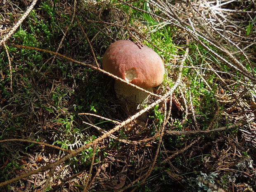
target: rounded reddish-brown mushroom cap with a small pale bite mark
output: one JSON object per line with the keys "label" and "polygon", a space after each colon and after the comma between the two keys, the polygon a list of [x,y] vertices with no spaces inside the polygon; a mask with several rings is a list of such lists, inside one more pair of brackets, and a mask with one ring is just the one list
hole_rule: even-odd
{"label": "rounded reddish-brown mushroom cap with a small pale bite mark", "polygon": [[107,48],[103,69],[141,88],[160,85],[164,78],[164,63],[152,49],[129,40],[119,40]]}

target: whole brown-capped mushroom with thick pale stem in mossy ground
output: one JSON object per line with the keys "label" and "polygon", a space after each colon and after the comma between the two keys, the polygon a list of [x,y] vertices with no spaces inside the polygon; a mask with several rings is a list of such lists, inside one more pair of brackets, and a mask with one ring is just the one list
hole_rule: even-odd
{"label": "whole brown-capped mushroom with thick pale stem in mossy ground", "polygon": [[[102,60],[103,69],[125,81],[149,92],[160,85],[164,78],[164,63],[161,57],[146,45],[129,40],[118,40],[111,44]],[[115,80],[117,97],[124,102],[146,103],[149,94],[126,83]]]}

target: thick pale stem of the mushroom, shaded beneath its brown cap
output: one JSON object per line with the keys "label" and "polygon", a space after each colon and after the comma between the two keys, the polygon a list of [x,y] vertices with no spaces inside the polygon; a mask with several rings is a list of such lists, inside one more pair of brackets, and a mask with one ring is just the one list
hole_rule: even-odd
{"label": "thick pale stem of the mushroom, shaded beneath its brown cap", "polygon": [[[149,92],[153,92],[153,88],[144,88]],[[115,92],[119,100],[123,102],[139,104],[146,104],[149,100],[149,94],[138,90],[126,83],[116,80],[115,81]]]}

